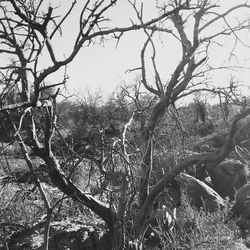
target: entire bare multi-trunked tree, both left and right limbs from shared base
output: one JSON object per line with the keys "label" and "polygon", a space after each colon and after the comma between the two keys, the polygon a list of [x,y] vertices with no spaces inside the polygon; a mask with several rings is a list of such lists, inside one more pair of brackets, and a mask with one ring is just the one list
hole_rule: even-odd
{"label": "entire bare multi-trunked tree, both left and right limbs from shared base", "polygon": [[[210,1],[171,1],[159,8],[159,15],[149,21],[144,21],[143,5],[140,8],[136,1],[130,4],[137,14],[138,21],[133,21],[128,27],[115,27],[108,21],[108,11],[115,8],[117,0],[86,1],[79,15],[79,31],[72,44],[72,50],[64,59],[54,49],[56,36],[60,34],[65,20],[77,6],[76,1],[64,16],[54,16],[55,8],[46,7],[46,1],[1,1],[0,8],[0,39],[1,54],[9,59],[0,67],[1,70],[1,109],[0,112],[9,123],[12,124],[13,136],[18,140],[27,165],[36,176],[25,145],[40,157],[46,165],[51,182],[65,195],[85,205],[98,215],[109,229],[110,239],[114,249],[123,249],[129,241],[126,232],[129,231],[134,247],[141,249],[146,229],[153,216],[152,209],[156,196],[171,182],[183,169],[192,164],[201,165],[208,162],[220,162],[234,149],[234,135],[237,132],[237,122],[249,115],[246,109],[236,117],[231,125],[226,144],[219,152],[190,156],[150,188],[150,174],[153,167],[154,133],[159,121],[169,107],[173,106],[180,98],[194,91],[220,91],[209,89],[207,85],[195,82],[197,77],[204,77],[209,70],[208,48],[219,36],[231,35],[238,40],[237,32],[247,27],[246,21],[239,21],[235,26],[230,26],[226,21],[227,16],[240,8],[249,8],[248,4],[241,4],[225,11],[216,13],[217,5]],[[47,9],[46,9],[47,8]],[[46,12],[44,10],[46,9]],[[192,21],[189,21],[192,19]],[[218,22],[224,21],[222,28],[215,33],[206,35]],[[192,24],[191,31],[186,30],[186,23]],[[172,29],[168,25],[171,24]],[[89,159],[95,163],[97,169],[105,179],[103,186],[112,183],[112,199],[109,204],[98,200],[92,195],[84,193],[62,170],[63,163],[59,162],[53,154],[52,141],[57,128],[56,97],[60,87],[66,84],[65,71],[61,81],[48,84],[46,80],[50,75],[66,66],[74,60],[82,46],[90,46],[96,40],[105,40],[107,36],[116,39],[128,31],[143,29],[146,34],[146,42],[141,51],[141,82],[147,91],[158,98],[158,102],[152,109],[150,118],[145,125],[143,133],[143,152],[141,159],[131,160],[127,147],[126,137],[128,127],[135,119],[136,114],[124,126],[122,140],[113,143],[112,148],[105,144],[105,134],[100,131],[100,145],[96,148],[84,147],[81,155],[72,151],[75,164],[83,159]],[[182,48],[182,56],[176,68],[166,83],[163,82],[156,64],[156,47],[154,36],[157,32],[166,32],[173,35]],[[187,33],[188,32],[188,33]],[[190,36],[190,32],[192,32]],[[191,38],[190,38],[191,37]],[[155,74],[154,84],[150,84],[146,72],[146,50],[152,48],[151,63]],[[47,64],[42,66],[40,60],[46,56]],[[55,92],[44,95],[44,91],[57,88]],[[14,93],[14,97],[13,97]],[[10,95],[12,97],[10,98]],[[43,112],[43,131],[38,135],[38,123],[36,114]],[[12,114],[17,114],[15,117]],[[14,118],[15,119],[14,119]],[[18,119],[17,119],[18,118]],[[109,150],[108,150],[109,149]],[[138,171],[139,165],[139,171]],[[114,167],[113,167],[114,166]],[[112,167],[112,168],[111,168]],[[112,170],[112,171],[111,171]],[[139,185],[135,183],[135,175],[138,176]],[[39,179],[36,177],[37,186]],[[106,185],[106,186],[105,186]],[[115,188],[115,187],[119,188]],[[43,192],[40,188],[41,193]],[[139,202],[137,202],[137,200]],[[51,205],[44,199],[47,213],[51,213]],[[138,204],[137,204],[138,203]],[[132,205],[137,205],[137,209]],[[136,210],[136,211],[135,211]],[[49,217],[49,216],[48,216]],[[132,221],[132,223],[131,223]],[[49,231],[49,223],[47,235]],[[46,246],[48,249],[48,246]]]}

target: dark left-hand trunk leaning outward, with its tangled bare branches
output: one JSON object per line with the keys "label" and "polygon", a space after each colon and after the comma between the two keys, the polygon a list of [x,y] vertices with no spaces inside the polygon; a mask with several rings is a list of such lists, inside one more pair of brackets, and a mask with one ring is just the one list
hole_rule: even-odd
{"label": "dark left-hand trunk leaning outward, with its tangled bare branches", "polygon": [[[58,160],[53,155],[51,140],[56,126],[56,97],[59,87],[66,83],[67,75],[65,73],[60,82],[50,85],[46,83],[46,79],[65,68],[76,57],[83,45],[89,46],[98,39],[105,39],[108,35],[115,35],[119,39],[124,32],[154,25],[177,9],[186,8],[185,6],[172,8],[169,12],[146,23],[132,23],[131,26],[119,28],[109,26],[109,20],[105,16],[116,3],[117,1],[114,0],[87,1],[84,4],[79,15],[79,31],[71,45],[72,50],[62,60],[58,59],[53,41],[61,33],[61,28],[76,6],[76,1],[72,1],[71,7],[59,18],[54,16],[53,7],[46,6],[46,1],[1,1],[0,6],[2,13],[0,52],[9,59],[5,65],[1,66],[1,113],[9,123],[13,124],[13,135],[18,139],[24,154],[27,154],[23,147],[25,143],[44,160],[52,183],[68,196],[85,204],[106,222],[111,234],[114,234],[114,246],[120,241],[115,236],[117,215],[109,206],[86,195],[76,187],[61,170]],[[44,12],[46,8],[47,11]],[[40,63],[44,54],[47,55],[45,66]],[[58,87],[55,93],[43,95],[45,90],[55,87]],[[10,93],[15,95],[12,100],[9,100]],[[42,143],[37,135],[34,118],[38,109],[42,109],[46,116]],[[18,111],[19,118],[12,120],[11,113],[16,111]],[[29,124],[25,139],[20,135],[24,122]],[[28,162],[28,158],[26,160]],[[98,164],[102,163],[102,160],[98,159]],[[31,164],[28,163],[28,166],[33,171]]]}

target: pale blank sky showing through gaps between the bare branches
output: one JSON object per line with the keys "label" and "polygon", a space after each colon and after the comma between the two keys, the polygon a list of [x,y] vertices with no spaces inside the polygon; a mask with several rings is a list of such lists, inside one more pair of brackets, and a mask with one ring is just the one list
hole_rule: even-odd
{"label": "pale blank sky showing through gaps between the bare branches", "polygon": [[[58,1],[60,2],[60,0]],[[55,2],[56,1],[52,1],[53,4]],[[71,1],[61,2],[63,5],[67,3],[68,6],[70,6],[71,4]],[[78,6],[74,10],[73,15],[69,21],[65,23],[62,39],[54,44],[59,58],[60,56],[67,55],[71,51],[73,46],[72,41],[78,31],[79,11],[84,4],[83,2],[78,1]],[[143,2],[145,16],[147,16],[147,20],[150,20],[150,17],[153,17],[155,13],[152,8],[152,2],[154,1],[151,2],[144,0]],[[218,2],[223,6],[223,9],[226,9],[235,4],[245,3],[245,0],[220,0]],[[67,9],[66,7],[63,7],[65,11]],[[246,11],[244,13],[238,12],[235,15],[246,15],[246,13]],[[248,13],[250,16],[250,9]],[[131,24],[129,21],[130,18],[136,20],[134,12],[131,6],[127,3],[127,0],[118,1],[117,6],[110,12],[109,17],[115,20],[115,26],[127,26]],[[111,92],[114,91],[123,81],[128,84],[133,84],[134,79],[136,78],[135,73],[129,74],[125,72],[128,69],[140,67],[140,52],[145,39],[146,36],[142,31],[135,31],[124,34],[117,48],[115,46],[116,41],[114,40],[106,41],[103,47],[96,45],[82,48],[78,56],[70,63],[67,69],[69,76],[67,86],[71,93],[84,94],[86,90],[90,90],[91,92],[101,90],[104,95],[108,95],[111,94]],[[230,43],[228,39],[229,38],[227,37],[222,41],[225,42],[224,47],[210,51],[209,56],[215,65],[221,65],[225,61],[228,51],[232,48],[232,43]],[[250,46],[250,34],[245,32],[243,39],[245,44]],[[168,39],[164,40],[164,43],[164,47],[161,47],[157,54],[157,61],[159,70],[164,76],[163,79],[167,81],[176,66],[176,62],[180,60],[181,54],[180,45],[177,45],[174,39],[168,36]],[[158,44],[160,44],[160,38],[158,39]],[[250,48],[239,45],[235,52],[237,53],[238,61],[232,57],[231,62],[234,62],[235,65],[250,66]],[[236,78],[239,78],[243,84],[250,86],[250,70],[239,70],[237,73],[231,73],[233,73]],[[218,71],[214,75],[213,80],[217,86],[223,86],[228,82],[229,78],[230,72],[225,73],[224,71]],[[50,80],[54,82],[55,78],[53,77]],[[58,78],[56,80],[58,80]],[[250,95],[250,90],[247,94]]]}

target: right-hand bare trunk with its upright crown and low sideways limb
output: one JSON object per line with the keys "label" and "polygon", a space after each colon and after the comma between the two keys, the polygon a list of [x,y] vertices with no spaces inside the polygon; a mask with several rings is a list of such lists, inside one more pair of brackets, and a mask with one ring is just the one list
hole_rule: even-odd
{"label": "right-hand bare trunk with its upright crown and low sideways limb", "polygon": [[[176,8],[179,7],[180,4],[182,4],[182,1],[173,1],[170,6],[174,6]],[[138,8],[136,3],[132,1],[131,5],[134,7],[138,19],[141,23],[143,23],[143,6]],[[141,82],[149,92],[158,96],[159,101],[154,106],[151,117],[148,120],[146,127],[147,133],[144,137],[145,151],[142,164],[140,165],[141,179],[139,188],[139,201],[141,208],[137,213],[137,223],[135,223],[135,234],[138,242],[142,241],[140,237],[143,235],[143,230],[146,228],[145,225],[147,224],[147,220],[150,218],[154,199],[157,194],[161,192],[167,183],[173,180],[173,178],[184,168],[187,168],[194,163],[200,166],[201,164],[208,162],[219,163],[222,161],[234,149],[235,145],[233,143],[233,137],[237,130],[235,125],[238,119],[242,119],[249,115],[249,110],[246,110],[246,112],[243,112],[242,115],[236,117],[234,123],[232,124],[228,141],[220,152],[191,156],[184,159],[170,172],[166,173],[162,180],[160,180],[154,187],[149,188],[149,176],[152,170],[153,160],[152,149],[154,147],[154,145],[152,145],[152,137],[159,121],[162,119],[165,112],[171,106],[175,105],[177,100],[197,91],[209,91],[217,94],[224,93],[224,95],[229,98],[230,95],[228,94],[228,90],[226,93],[225,89],[219,87],[209,87],[206,82],[206,73],[212,69],[209,66],[209,48],[213,43],[217,43],[217,39],[219,37],[223,36],[232,36],[235,39],[235,43],[240,42],[237,32],[248,28],[246,20],[239,21],[236,25],[231,25],[227,22],[227,18],[234,11],[241,8],[249,8],[250,6],[247,4],[234,6],[223,13],[216,13],[215,16],[213,16],[212,13],[214,13],[213,10],[216,9],[218,5],[213,4],[210,1],[192,1],[188,5],[189,11],[176,11],[169,18],[160,22],[159,26],[144,28],[147,40],[141,51]],[[167,7],[169,7],[169,5],[163,4],[160,6],[160,9],[164,12]],[[209,33],[209,31],[206,32],[206,30],[210,29],[214,25],[218,25],[221,21],[225,25],[217,26],[217,28],[221,27],[220,30],[216,29],[216,32],[212,32],[212,34]],[[192,28],[189,27],[189,29],[187,29],[186,24],[189,24]],[[168,27],[173,28],[170,29]],[[160,71],[158,70],[156,63],[157,49],[154,43],[154,35],[157,31],[174,36],[182,47],[182,57],[179,59],[179,62],[177,63],[170,79],[165,83],[160,75]],[[149,46],[151,46],[152,49],[151,63],[155,76],[155,81],[153,83],[150,83],[146,75],[146,49]],[[235,47],[232,49],[232,53],[234,49]],[[197,81],[196,79],[200,77],[202,77],[202,80]]]}

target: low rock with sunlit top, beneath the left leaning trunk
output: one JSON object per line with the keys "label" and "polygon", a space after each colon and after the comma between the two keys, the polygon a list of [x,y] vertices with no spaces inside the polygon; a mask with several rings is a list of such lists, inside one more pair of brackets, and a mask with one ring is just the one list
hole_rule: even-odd
{"label": "low rock with sunlit top, beneath the left leaning trunk", "polygon": [[[12,235],[9,249],[43,249],[44,223]],[[25,248],[24,248],[25,246]],[[68,250],[110,250],[112,241],[104,231],[74,220],[54,221],[51,223],[49,249]]]}

